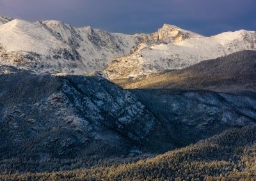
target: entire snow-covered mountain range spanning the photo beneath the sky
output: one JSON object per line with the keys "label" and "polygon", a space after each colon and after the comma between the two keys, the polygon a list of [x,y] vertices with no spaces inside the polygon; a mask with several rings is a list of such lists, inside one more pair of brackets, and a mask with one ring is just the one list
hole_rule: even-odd
{"label": "entire snow-covered mountain range spanning the photo beneath the sky", "polygon": [[37,73],[83,75],[105,69],[109,79],[139,78],[241,50],[256,50],[255,31],[205,37],[164,24],[156,33],[128,35],[0,17],[0,66]]}

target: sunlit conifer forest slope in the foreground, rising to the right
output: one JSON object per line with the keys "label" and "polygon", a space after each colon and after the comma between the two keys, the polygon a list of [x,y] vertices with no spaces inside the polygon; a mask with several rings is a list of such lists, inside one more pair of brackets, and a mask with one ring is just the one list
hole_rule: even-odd
{"label": "sunlit conifer forest slope in the foreground, rising to the right", "polygon": [[86,170],[0,175],[8,180],[255,180],[256,127],[231,129],[136,163]]}

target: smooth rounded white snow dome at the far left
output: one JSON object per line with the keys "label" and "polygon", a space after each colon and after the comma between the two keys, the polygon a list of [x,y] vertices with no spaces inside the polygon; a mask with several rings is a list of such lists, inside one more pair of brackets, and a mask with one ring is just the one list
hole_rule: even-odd
{"label": "smooth rounded white snow dome at the far left", "polygon": [[35,52],[46,55],[59,47],[69,48],[67,44],[52,36],[39,22],[15,19],[2,25],[0,33],[0,41],[7,52]]}

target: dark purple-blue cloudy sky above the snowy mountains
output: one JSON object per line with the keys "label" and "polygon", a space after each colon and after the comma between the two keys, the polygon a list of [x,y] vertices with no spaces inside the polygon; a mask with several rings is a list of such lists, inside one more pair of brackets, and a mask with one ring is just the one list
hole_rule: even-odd
{"label": "dark purple-blue cloudy sky above the snowy mountains", "polygon": [[151,33],[164,23],[204,35],[256,31],[256,0],[0,0],[0,15],[120,33]]}

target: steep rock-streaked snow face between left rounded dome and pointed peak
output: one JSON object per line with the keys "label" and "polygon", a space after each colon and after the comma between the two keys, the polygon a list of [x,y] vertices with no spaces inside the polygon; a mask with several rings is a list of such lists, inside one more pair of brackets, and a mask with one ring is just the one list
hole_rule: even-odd
{"label": "steep rock-streaked snow face between left rounded dome and pointed peak", "polygon": [[109,60],[129,54],[140,41],[136,35],[111,34],[92,27],[75,28],[56,21],[42,23],[76,50],[86,66],[86,72],[104,69]]}

